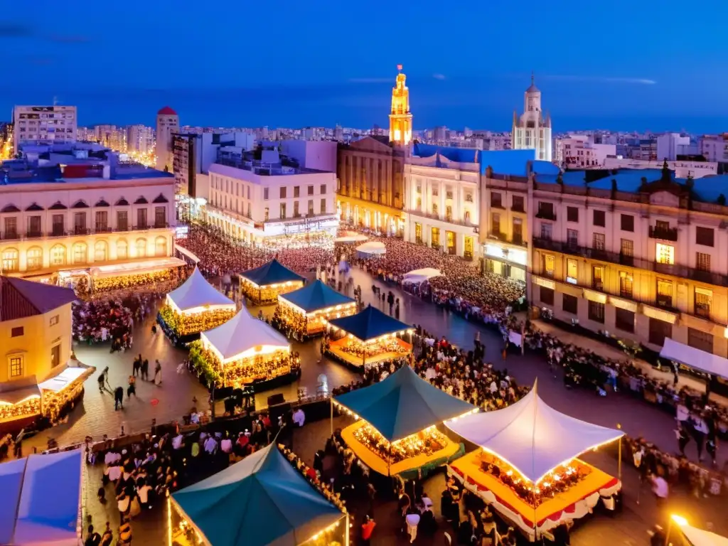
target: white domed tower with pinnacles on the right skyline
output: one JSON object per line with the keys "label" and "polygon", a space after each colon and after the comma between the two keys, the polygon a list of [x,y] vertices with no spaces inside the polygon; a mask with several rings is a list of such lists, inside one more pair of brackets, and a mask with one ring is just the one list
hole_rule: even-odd
{"label": "white domed tower with pinnacles on the right skyline", "polygon": [[551,117],[544,116],[541,108],[541,91],[531,76],[531,87],[523,94],[523,114],[513,112],[514,150],[536,150],[536,159],[552,160]]}

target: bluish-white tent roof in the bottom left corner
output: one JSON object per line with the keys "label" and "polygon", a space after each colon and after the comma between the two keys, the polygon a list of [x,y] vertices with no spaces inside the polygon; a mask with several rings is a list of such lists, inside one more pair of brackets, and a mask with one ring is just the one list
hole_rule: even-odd
{"label": "bluish-white tent roof in the bottom left corner", "polygon": [[0,544],[77,546],[80,449],[0,464]]}

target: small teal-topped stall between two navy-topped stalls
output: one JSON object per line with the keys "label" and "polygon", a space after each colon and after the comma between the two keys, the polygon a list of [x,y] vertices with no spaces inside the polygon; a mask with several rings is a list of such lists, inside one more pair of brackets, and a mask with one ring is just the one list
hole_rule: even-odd
{"label": "small teal-topped stall between two navy-topped stalls", "polygon": [[348,317],[357,310],[356,301],[320,280],[315,280],[295,292],[278,296],[273,317],[280,328],[290,328],[299,336],[315,336],[326,328],[326,321]]}

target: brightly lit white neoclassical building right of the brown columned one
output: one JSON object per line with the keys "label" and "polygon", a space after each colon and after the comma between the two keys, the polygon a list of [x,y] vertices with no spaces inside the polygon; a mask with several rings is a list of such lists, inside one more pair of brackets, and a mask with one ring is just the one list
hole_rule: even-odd
{"label": "brightly lit white neoclassical building right of the brown columned one", "polygon": [[414,146],[405,165],[405,240],[467,259],[478,256],[477,153]]}

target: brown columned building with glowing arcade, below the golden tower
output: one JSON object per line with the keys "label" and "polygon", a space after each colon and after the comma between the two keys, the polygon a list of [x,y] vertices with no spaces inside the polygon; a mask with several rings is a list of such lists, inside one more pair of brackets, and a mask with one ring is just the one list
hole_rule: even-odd
{"label": "brown columned building with glowing arcade, below the golden tower", "polygon": [[402,237],[405,154],[385,137],[339,146],[336,207],[341,221]]}

